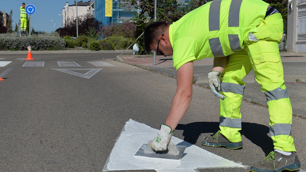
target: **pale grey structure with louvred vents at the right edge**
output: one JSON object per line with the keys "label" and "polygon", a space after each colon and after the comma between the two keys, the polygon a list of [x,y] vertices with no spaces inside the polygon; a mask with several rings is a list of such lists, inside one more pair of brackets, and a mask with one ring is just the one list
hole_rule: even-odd
{"label": "pale grey structure with louvred vents at the right edge", "polygon": [[306,0],[288,1],[287,52],[306,52]]}

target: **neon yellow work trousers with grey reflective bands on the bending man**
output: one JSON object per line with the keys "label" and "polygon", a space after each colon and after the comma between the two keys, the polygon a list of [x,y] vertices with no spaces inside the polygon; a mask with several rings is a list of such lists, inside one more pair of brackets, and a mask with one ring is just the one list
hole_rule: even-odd
{"label": "neon yellow work trousers with grey reflective bands on the bending man", "polygon": [[[283,26],[279,13],[265,18],[257,26],[257,32],[251,33],[252,41],[246,41],[243,50],[229,56],[221,76],[221,93],[226,98],[220,99],[219,127],[221,134],[231,142],[242,141],[239,132],[240,106],[245,86],[242,79],[253,69],[255,79],[267,98],[274,149],[296,151],[291,136],[292,107],[284,85],[283,65],[279,55]],[[258,115],[260,118],[261,114]]]}

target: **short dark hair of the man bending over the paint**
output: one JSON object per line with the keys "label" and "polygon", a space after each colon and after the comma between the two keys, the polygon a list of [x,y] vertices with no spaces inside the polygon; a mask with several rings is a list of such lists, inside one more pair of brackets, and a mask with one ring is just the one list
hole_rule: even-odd
{"label": "short dark hair of the man bending over the paint", "polygon": [[153,21],[145,27],[143,38],[145,49],[148,54],[151,52],[149,46],[154,42],[158,42],[157,38],[165,33],[165,30],[169,25],[170,23],[166,23],[165,21]]}

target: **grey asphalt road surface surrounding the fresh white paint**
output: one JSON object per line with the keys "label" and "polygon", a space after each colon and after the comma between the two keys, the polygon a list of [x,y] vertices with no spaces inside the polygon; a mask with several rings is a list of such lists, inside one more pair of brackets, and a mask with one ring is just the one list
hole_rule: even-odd
{"label": "grey asphalt road surface surrounding the fresh white paint", "polygon": [[[159,129],[170,109],[175,79],[114,61],[119,54],[32,54],[34,62],[44,62],[43,67],[22,67],[26,54],[0,55],[0,61],[12,61],[0,67],[0,74],[5,74],[5,81],[0,81],[0,171],[102,171],[129,119]],[[80,76],[100,70],[87,79],[56,69]],[[203,136],[218,130],[219,101],[209,89],[193,87],[193,100],[175,137],[247,166],[273,149],[268,109],[246,101],[241,107],[243,149],[201,146]],[[306,164],[305,124],[305,119],[293,117],[292,135],[302,169]]]}

